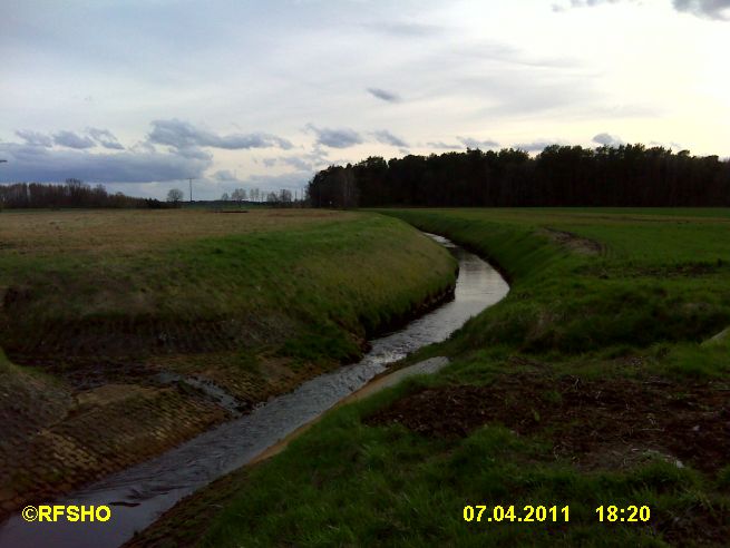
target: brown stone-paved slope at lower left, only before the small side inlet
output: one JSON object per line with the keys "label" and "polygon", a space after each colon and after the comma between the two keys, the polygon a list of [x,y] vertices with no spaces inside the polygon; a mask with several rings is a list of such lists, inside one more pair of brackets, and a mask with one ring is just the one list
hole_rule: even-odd
{"label": "brown stone-paved slope at lower left, only before the small side inlet", "polygon": [[227,413],[176,388],[61,382],[0,364],[0,520],[144,461]]}

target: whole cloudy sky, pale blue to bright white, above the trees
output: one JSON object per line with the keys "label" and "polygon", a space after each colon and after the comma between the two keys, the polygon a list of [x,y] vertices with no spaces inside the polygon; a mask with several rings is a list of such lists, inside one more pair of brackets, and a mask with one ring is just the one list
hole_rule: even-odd
{"label": "whole cloudy sky, pale blue to bright white, above the trees", "polygon": [[728,51],[730,0],[3,0],[0,182],[215,198],[369,155],[726,157]]}

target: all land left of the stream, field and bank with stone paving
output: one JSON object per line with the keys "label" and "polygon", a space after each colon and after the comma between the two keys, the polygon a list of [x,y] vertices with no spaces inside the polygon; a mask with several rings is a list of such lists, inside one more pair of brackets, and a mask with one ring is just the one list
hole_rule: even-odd
{"label": "all land left of the stream, field and bank with stone paving", "polygon": [[366,213],[0,213],[0,518],[356,360],[455,268]]}

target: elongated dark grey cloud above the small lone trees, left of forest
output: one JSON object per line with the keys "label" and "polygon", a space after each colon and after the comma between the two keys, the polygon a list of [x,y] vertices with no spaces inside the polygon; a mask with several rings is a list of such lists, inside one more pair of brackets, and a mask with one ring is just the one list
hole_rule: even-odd
{"label": "elongated dark grey cloud above the small lone trees, left of forest", "polygon": [[198,147],[227,150],[275,147],[286,150],[293,146],[289,140],[271,134],[216,135],[178,119],[154,120],[152,125],[153,130],[148,135],[150,143],[167,145],[181,150],[194,150]]}

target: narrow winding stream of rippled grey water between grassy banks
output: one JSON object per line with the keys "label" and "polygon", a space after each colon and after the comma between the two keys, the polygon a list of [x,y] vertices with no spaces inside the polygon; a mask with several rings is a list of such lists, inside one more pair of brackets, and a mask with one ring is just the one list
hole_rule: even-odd
{"label": "narrow winding stream of rippled grey water between grassy banks", "polygon": [[31,522],[13,516],[0,528],[0,547],[113,547],[150,525],[179,499],[253,460],[266,448],[361,388],[387,365],[421,346],[445,341],[509,287],[476,255],[431,235],[459,262],[454,300],[402,330],[371,341],[359,362],[312,379],[247,415],[222,424],[136,467],[115,473],[58,503],[109,505],[106,523]]}

